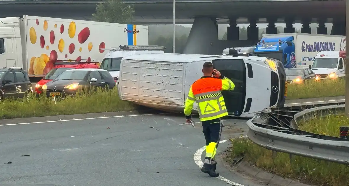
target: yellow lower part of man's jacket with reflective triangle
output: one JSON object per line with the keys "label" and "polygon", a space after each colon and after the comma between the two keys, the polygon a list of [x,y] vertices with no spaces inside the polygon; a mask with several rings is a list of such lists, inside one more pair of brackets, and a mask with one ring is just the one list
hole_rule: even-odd
{"label": "yellow lower part of man's jacket with reflective triangle", "polygon": [[227,112],[221,91],[196,94],[195,99],[198,104],[200,118],[214,117]]}

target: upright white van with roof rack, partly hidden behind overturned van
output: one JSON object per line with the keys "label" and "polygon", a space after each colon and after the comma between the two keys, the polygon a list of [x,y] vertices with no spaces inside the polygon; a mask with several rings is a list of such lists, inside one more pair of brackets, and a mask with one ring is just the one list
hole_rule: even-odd
{"label": "upright white van with roof rack, partly hidden behind overturned van", "polygon": [[122,57],[136,54],[163,54],[165,47],[153,46],[119,46],[118,48],[109,48],[105,54],[100,69],[107,70],[115,80],[118,80],[120,63]]}

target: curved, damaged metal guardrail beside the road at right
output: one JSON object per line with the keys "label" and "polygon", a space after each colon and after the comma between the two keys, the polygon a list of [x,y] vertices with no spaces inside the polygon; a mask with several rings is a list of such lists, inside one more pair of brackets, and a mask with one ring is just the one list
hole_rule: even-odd
{"label": "curved, damaged metal guardrail beside the road at right", "polygon": [[300,120],[307,120],[315,113],[343,110],[343,103],[264,110],[246,122],[249,129],[247,136],[255,144],[276,152],[349,164],[349,139],[297,129]]}

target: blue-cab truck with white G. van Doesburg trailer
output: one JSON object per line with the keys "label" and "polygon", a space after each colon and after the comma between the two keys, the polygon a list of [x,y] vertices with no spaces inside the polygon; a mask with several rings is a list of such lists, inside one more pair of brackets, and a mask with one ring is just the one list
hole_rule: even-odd
{"label": "blue-cab truck with white G. van Doesburg trailer", "polygon": [[345,42],[345,36],[325,34],[263,34],[253,53],[280,60],[284,68],[309,68],[319,52],[345,50]]}

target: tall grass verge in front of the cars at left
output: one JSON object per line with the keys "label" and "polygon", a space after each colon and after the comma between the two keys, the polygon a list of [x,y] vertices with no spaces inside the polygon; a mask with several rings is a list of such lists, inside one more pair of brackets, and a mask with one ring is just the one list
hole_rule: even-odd
{"label": "tall grass verge in front of the cars at left", "polygon": [[120,100],[117,88],[110,91],[98,89],[89,94],[81,92],[56,103],[44,95],[35,98],[32,94],[29,100],[4,99],[0,104],[0,119],[128,111],[137,107]]}

